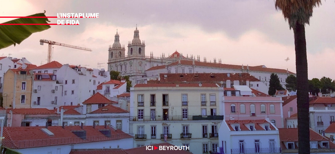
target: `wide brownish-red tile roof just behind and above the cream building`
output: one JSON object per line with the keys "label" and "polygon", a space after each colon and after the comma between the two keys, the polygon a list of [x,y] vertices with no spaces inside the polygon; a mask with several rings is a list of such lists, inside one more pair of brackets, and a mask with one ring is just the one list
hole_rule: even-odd
{"label": "wide brownish-red tile roof just behind and above the cream building", "polygon": [[[227,74],[229,74],[229,77]],[[230,82],[260,81],[249,73],[241,73],[241,76],[239,73],[160,73],[159,78],[160,83],[181,83],[185,81],[188,83],[220,83],[227,80],[230,80]]]}

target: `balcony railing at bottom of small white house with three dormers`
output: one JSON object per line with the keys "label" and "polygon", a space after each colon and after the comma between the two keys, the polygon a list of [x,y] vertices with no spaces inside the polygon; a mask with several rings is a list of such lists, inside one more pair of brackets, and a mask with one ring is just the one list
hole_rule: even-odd
{"label": "balcony railing at bottom of small white house with three dormers", "polygon": [[255,154],[255,153],[280,153],[280,148],[243,148],[243,149],[230,149],[231,154]]}

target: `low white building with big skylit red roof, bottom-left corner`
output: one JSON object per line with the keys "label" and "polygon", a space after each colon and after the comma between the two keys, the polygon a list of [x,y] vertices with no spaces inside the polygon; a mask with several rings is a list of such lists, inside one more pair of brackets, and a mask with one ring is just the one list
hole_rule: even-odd
{"label": "low white building with big skylit red roof, bottom-left corner", "polygon": [[72,149],[130,149],[133,137],[110,126],[4,127],[2,144],[22,154],[69,154]]}

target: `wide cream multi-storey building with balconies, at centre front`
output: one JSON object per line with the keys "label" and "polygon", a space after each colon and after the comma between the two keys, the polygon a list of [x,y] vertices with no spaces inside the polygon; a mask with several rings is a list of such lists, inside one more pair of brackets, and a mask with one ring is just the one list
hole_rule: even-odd
{"label": "wide cream multi-storey building with balconies, at centre front", "polygon": [[218,147],[223,87],[214,83],[137,84],[130,89],[134,147],[166,142],[203,154]]}

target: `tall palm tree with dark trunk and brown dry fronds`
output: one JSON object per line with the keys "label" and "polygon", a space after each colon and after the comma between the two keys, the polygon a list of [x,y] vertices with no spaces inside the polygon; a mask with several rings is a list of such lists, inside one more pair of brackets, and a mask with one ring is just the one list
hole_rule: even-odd
{"label": "tall palm tree with dark trunk and brown dry fronds", "polygon": [[290,29],[294,32],[297,110],[298,110],[298,151],[310,153],[310,121],[308,97],[308,70],[306,53],[305,24],[309,24],[313,8],[321,5],[321,0],[276,0],[275,7],[283,12]]}

